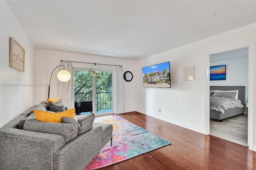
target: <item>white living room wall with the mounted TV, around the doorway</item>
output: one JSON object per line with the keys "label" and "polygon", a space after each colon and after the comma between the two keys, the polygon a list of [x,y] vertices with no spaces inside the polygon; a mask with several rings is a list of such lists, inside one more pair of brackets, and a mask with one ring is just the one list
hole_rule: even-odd
{"label": "white living room wall with the mounted TV, around the doorway", "polygon": [[[250,24],[138,60],[137,111],[204,133],[205,54],[213,50],[254,42],[255,28],[256,23]],[[170,61],[172,88],[143,88],[141,68],[166,61]],[[191,65],[195,66],[195,80],[183,81],[183,67]],[[160,113],[158,113],[158,108],[162,110]]]}

